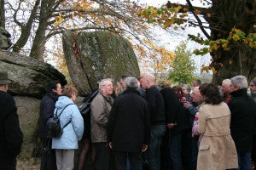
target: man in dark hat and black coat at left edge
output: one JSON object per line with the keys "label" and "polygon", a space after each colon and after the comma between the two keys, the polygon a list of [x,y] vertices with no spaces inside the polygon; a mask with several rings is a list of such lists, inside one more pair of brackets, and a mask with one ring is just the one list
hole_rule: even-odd
{"label": "man in dark hat and black coat at left edge", "polygon": [[0,169],[15,170],[23,134],[15,99],[7,93],[9,83],[7,72],[0,71]]}

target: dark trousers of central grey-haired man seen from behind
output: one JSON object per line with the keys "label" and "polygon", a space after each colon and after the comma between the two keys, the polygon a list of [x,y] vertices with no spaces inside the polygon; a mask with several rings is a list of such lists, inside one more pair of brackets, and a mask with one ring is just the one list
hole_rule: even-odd
{"label": "dark trousers of central grey-haired man seen from behind", "polygon": [[143,165],[142,153],[133,153],[125,151],[114,151],[116,170],[125,170],[127,156],[130,163],[130,170],[141,170]]}

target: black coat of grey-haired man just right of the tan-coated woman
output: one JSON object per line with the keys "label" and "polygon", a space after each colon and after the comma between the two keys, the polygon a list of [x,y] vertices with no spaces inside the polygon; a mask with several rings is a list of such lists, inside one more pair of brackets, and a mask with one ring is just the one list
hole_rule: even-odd
{"label": "black coat of grey-haired man just right of the tan-coated woman", "polygon": [[231,111],[230,131],[236,144],[236,150],[248,152],[253,147],[256,103],[247,95],[247,89],[230,93],[232,99],[228,104]]}

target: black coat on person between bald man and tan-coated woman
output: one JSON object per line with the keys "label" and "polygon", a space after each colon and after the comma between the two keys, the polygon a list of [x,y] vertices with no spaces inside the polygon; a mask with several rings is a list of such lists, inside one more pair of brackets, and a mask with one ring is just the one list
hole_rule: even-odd
{"label": "black coat on person between bald man and tan-coated woman", "polygon": [[175,94],[172,88],[163,88],[160,90],[160,93],[165,101],[166,122],[177,123],[172,127],[172,133],[179,133],[191,128],[190,119],[192,116],[183,107],[183,103],[178,100],[177,94]]}

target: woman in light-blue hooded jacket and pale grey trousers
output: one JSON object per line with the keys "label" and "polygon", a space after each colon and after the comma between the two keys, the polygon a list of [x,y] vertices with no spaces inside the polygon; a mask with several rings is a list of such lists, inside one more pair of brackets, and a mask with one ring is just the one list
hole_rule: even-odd
{"label": "woman in light-blue hooded jacket and pale grey trousers", "polygon": [[58,170],[72,170],[74,150],[79,148],[78,141],[84,133],[84,120],[74,105],[77,91],[70,85],[65,86],[62,96],[55,104],[55,113],[59,116],[63,133],[59,139],[52,139]]}

